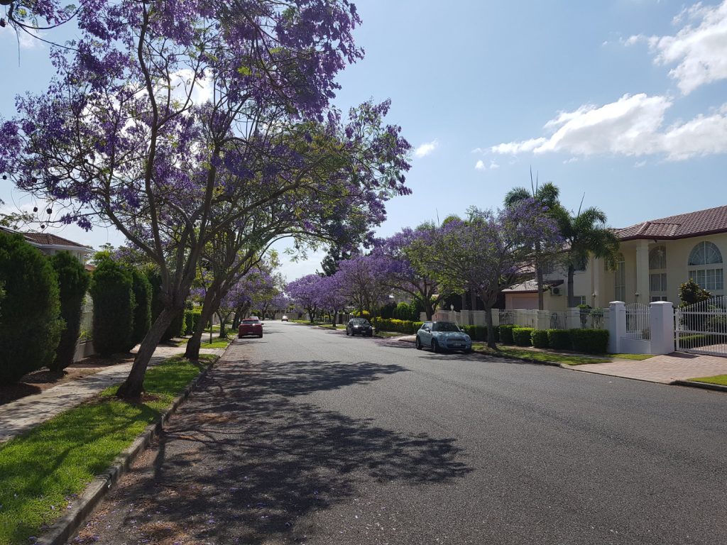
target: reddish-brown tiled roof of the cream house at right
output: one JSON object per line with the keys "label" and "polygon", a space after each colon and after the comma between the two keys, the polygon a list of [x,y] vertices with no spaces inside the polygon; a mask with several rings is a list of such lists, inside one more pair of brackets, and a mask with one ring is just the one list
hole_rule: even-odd
{"label": "reddish-brown tiled roof of the cream house at right", "polygon": [[727,233],[727,206],[652,219],[616,230],[616,236],[622,241],[689,238],[712,233]]}

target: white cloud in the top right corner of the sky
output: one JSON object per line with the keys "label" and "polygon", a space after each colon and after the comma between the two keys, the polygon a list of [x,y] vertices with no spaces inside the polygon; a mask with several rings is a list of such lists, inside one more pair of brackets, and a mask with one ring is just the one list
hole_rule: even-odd
{"label": "white cloud in the top right corner of the sky", "polygon": [[[699,86],[727,78],[727,0],[718,6],[699,2],[684,9],[674,23],[684,21],[674,36],[651,36],[648,45],[658,64],[676,63],[669,75],[677,80],[683,94],[689,94]],[[626,43],[643,39],[631,36]]]}

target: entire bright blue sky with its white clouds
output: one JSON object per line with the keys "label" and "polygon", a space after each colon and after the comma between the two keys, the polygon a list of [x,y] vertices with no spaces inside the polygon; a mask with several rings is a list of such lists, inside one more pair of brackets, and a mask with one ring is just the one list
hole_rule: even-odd
{"label": "entire bright blue sky with its white clouds", "polygon": [[[357,1],[366,58],[339,77],[347,109],[393,102],[416,148],[413,195],[380,235],[498,206],[529,169],[614,227],[727,201],[727,1]],[[47,49],[0,29],[0,114],[50,76]],[[31,47],[28,47],[28,46]],[[12,206],[22,195],[0,188]],[[119,243],[104,230],[64,236]],[[283,245],[284,246],[284,245]],[[292,280],[320,254],[286,265]]]}

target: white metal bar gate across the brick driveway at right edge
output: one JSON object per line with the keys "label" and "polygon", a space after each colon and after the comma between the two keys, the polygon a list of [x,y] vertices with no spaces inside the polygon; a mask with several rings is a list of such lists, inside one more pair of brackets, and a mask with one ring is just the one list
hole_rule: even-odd
{"label": "white metal bar gate across the brick driveway at right edge", "polygon": [[712,297],[674,313],[677,350],[727,356],[727,298]]}

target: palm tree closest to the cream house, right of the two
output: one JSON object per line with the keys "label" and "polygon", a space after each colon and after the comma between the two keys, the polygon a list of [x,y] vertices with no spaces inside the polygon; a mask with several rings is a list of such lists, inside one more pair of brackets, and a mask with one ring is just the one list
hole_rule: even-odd
{"label": "palm tree closest to the cream house, right of the two", "polygon": [[558,225],[567,247],[565,255],[568,266],[568,307],[573,308],[573,275],[576,267],[585,265],[591,256],[606,259],[609,268],[615,267],[619,239],[613,230],[606,227],[606,214],[595,206],[579,209],[577,214],[562,214]]}

